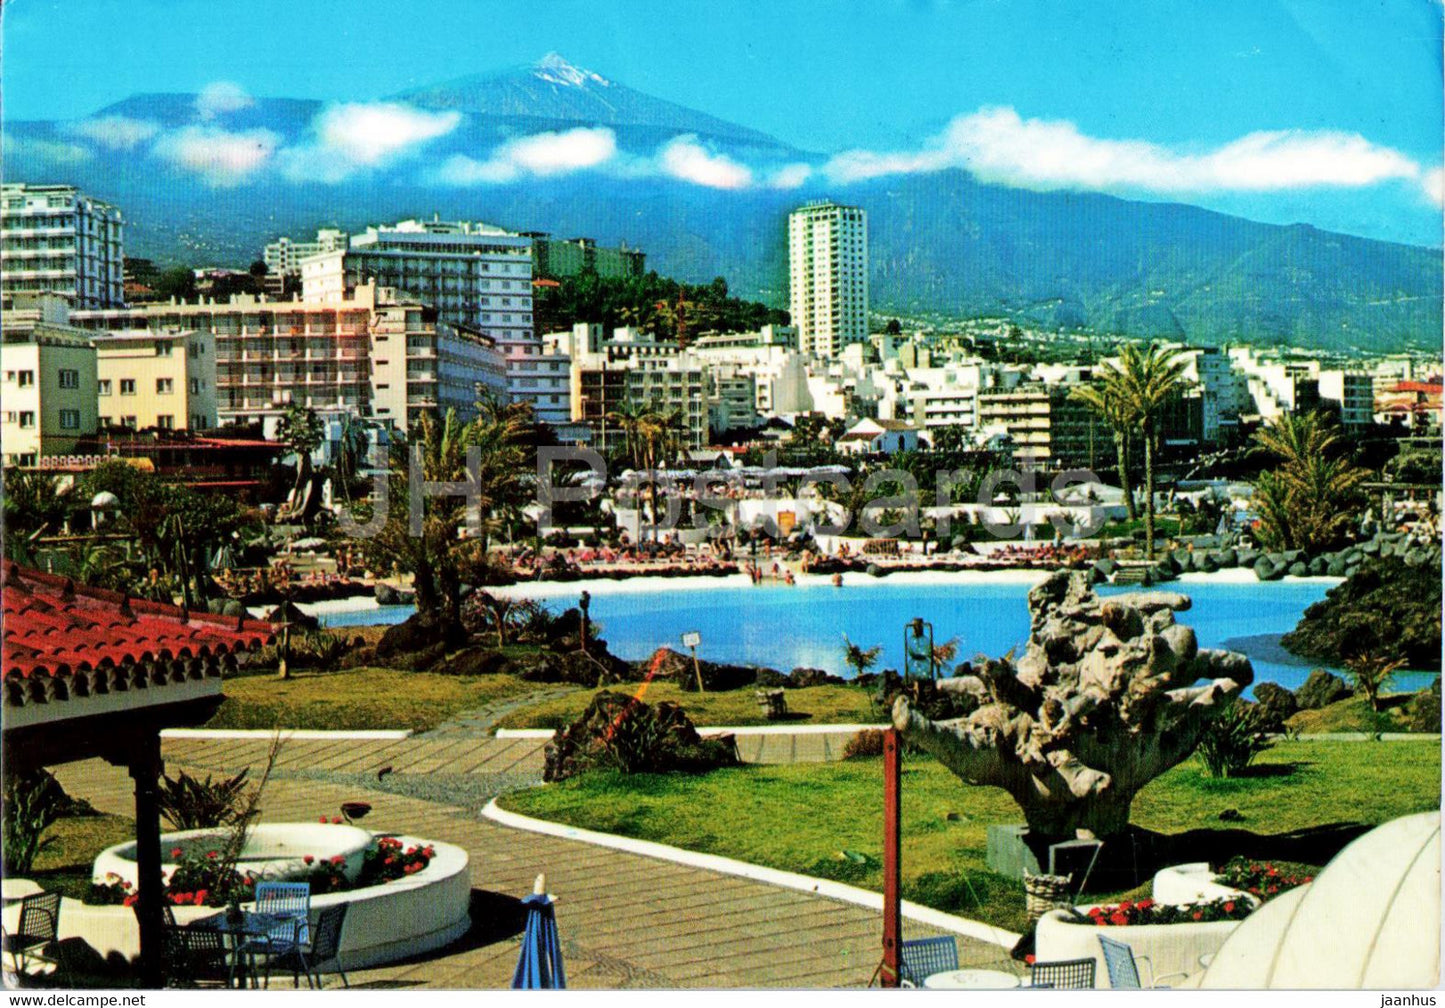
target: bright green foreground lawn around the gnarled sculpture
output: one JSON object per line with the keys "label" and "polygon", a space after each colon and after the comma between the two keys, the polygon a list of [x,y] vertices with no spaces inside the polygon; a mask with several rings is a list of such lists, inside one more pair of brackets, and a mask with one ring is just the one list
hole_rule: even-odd
{"label": "bright green foreground lawn around the gnarled sculpture", "polygon": [[[1439,806],[1441,754],[1429,742],[1280,742],[1256,775],[1215,780],[1188,761],[1134,800],[1133,822],[1163,833],[1254,833],[1335,822],[1381,823]],[[1270,771],[1269,767],[1279,770]],[[585,829],[881,888],[879,760],[623,777],[594,773],[504,797],[507,809]],[[967,787],[926,757],[903,768],[903,895],[1023,930],[1017,882],[984,866],[990,823],[1022,822],[993,787]],[[1221,823],[1235,809],[1243,820]],[[1222,858],[1220,858],[1222,861]]]}

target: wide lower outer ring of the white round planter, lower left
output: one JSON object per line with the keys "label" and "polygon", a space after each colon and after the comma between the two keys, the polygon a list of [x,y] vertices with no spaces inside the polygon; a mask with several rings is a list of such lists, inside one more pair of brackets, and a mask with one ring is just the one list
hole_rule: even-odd
{"label": "wide lower outer ring of the white round planter, lower left", "polygon": [[[275,826],[306,827],[308,823],[275,823]],[[426,868],[415,875],[348,892],[312,897],[312,923],[322,908],[338,903],[347,904],[338,957],[341,968],[348,970],[434,952],[451,944],[471,927],[471,875],[468,856],[462,848],[416,836],[393,833],[374,836],[396,836],[403,849],[431,846],[435,855]],[[368,842],[371,838],[373,835],[367,833]],[[223,911],[217,907],[175,907],[176,921],[181,924],[215,913]],[[103,959],[118,956],[129,962],[140,955],[136,913],[130,907],[95,907],[65,900],[61,908],[59,937],[78,937]]]}

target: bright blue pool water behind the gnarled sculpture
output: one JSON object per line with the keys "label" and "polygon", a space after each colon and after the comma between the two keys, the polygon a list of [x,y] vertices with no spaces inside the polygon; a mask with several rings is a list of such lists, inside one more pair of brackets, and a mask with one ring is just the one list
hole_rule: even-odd
{"label": "bright blue pool water behind the gnarled sculpture", "polygon": [[[1170,583],[1194,599],[1178,620],[1194,627],[1201,647],[1243,651],[1254,664],[1256,682],[1295,689],[1318,663],[1298,659],[1279,646],[1280,634],[1325,596],[1331,582],[1286,581],[1273,583],[1196,582]],[[1127,589],[1103,588],[1101,594]],[[738,585],[708,589],[660,588],[647,592],[594,592],[591,612],[601,624],[608,648],[629,660],[646,659],[656,648],[682,650],[681,635],[698,631],[698,656],[711,661],[760,664],[788,672],[798,666],[850,676],[842,663],[842,637],[863,647],[883,646],[879,669],[900,669],[903,627],[915,617],[933,624],[935,641],[959,638],[959,659],[1001,656],[1029,637],[1029,585],[1026,583],[902,583],[892,579],[834,588],[828,583],[798,586]],[[577,594],[546,599],[549,608],[577,604]],[[329,625],[393,622],[409,607],[387,607],[363,614],[337,614]],[[1435,673],[1397,676],[1396,689],[1422,689]]]}

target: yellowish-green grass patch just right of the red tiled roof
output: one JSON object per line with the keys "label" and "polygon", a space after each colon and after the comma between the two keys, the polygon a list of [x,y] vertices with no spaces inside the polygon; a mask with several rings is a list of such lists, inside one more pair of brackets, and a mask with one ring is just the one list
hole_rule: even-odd
{"label": "yellowish-green grass patch just right of the red tiled roof", "polygon": [[227,679],[207,728],[410,728],[426,731],[491,700],[546,689],[516,676],[441,676],[396,669]]}

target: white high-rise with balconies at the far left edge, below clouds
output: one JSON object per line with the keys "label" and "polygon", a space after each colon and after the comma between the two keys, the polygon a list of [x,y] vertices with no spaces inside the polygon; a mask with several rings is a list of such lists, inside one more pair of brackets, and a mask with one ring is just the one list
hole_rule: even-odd
{"label": "white high-rise with balconies at the far left edge, below clouds", "polygon": [[124,299],[120,211],[71,185],[0,186],[0,290],[56,293],[72,308]]}

